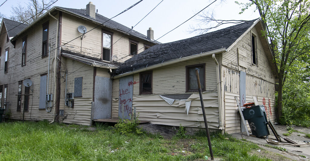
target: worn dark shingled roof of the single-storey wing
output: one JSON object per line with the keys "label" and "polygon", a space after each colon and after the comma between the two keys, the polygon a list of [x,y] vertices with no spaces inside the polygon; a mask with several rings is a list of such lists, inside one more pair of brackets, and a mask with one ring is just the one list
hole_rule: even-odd
{"label": "worn dark shingled roof of the single-storey wing", "polygon": [[[256,19],[257,20],[257,19]],[[202,34],[184,40],[154,45],[148,50],[126,60],[116,69],[116,75],[231,46],[256,20],[246,21],[228,28]]]}

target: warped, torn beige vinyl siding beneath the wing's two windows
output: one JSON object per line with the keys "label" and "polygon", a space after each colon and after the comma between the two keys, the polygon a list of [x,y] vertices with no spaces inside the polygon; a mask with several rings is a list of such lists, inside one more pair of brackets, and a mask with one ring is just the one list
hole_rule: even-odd
{"label": "warped, torn beige vinyl siding beneath the wing's two windows", "polygon": [[[203,92],[203,101],[209,128],[219,129],[219,107],[217,92]],[[185,100],[175,100],[168,104],[159,95],[134,95],[133,107],[136,107],[139,120],[152,124],[204,128],[199,93],[193,93],[188,115],[185,113]]]}

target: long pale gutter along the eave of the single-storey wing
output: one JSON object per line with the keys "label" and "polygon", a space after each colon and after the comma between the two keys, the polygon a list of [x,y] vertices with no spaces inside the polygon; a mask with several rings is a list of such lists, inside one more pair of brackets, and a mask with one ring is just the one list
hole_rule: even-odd
{"label": "long pale gutter along the eave of the single-storey wing", "polygon": [[135,70],[135,71],[126,72],[126,73],[114,76],[114,77],[112,77],[112,79],[120,78],[120,77],[123,77],[123,76],[128,76],[128,75],[139,73],[139,72],[143,72],[143,71],[146,71],[146,70],[151,70],[151,69],[154,69],[154,68],[157,68],[157,67],[163,67],[163,66],[166,66],[166,65],[170,65],[170,64],[174,64],[174,63],[179,63],[179,62],[183,62],[183,61],[186,61],[186,60],[195,59],[195,58],[199,58],[199,57],[203,57],[203,56],[208,56],[208,55],[212,55],[212,54],[219,54],[219,53],[223,53],[223,52],[226,52],[226,48],[221,48],[221,49],[217,49],[217,50],[213,50],[213,51],[208,51],[208,52],[201,53],[201,54],[191,55],[191,56],[183,57],[183,58],[180,58],[180,59],[171,60],[171,61],[165,62],[165,63],[151,65],[149,67],[144,67],[144,68],[141,68],[141,69],[138,69],[138,70]]}

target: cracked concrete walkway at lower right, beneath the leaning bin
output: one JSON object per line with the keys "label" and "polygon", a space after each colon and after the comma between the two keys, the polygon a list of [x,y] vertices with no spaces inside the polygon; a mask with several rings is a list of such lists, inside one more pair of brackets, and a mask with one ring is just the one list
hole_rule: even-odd
{"label": "cracked concrete walkway at lower right, beneath the leaning bin", "polygon": [[[284,125],[274,125],[277,133],[279,135],[281,135],[282,137],[286,137],[283,135],[283,133],[288,133],[286,130],[286,126]],[[310,128],[301,128],[301,127],[293,127],[294,130],[297,130],[298,132],[293,132],[292,134],[290,134],[290,136],[287,136],[287,138],[289,138],[292,141],[295,141],[298,144],[304,143],[303,141],[310,141],[310,138],[308,137],[304,137],[305,134],[303,133],[308,133],[310,134]],[[270,130],[270,128],[268,127],[270,135],[269,135],[269,139],[273,139],[276,140],[276,137],[273,135],[272,131]],[[277,146],[277,145],[273,145],[273,144],[268,144],[265,140],[265,137],[251,137],[251,136],[246,136],[246,133],[234,133],[232,134],[232,137],[238,138],[238,139],[246,139],[247,141],[251,141],[253,143],[259,144],[260,147],[272,151],[272,152],[276,152],[279,153],[287,158],[290,158],[292,160],[310,160],[310,146],[309,145],[303,145],[300,147],[297,146],[289,146],[289,145],[281,145],[281,146]],[[281,140],[283,142],[284,141],[282,138]],[[274,148],[270,148],[264,145],[269,145],[269,146],[277,146],[277,147],[281,147],[281,148],[285,148],[287,151],[281,151],[278,149],[274,149]],[[306,158],[303,158],[302,156],[305,156]]]}

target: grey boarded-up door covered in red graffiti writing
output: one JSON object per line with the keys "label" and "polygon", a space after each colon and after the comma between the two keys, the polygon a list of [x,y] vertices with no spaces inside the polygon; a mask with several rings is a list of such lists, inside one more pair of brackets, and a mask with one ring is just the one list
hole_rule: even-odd
{"label": "grey boarded-up door covered in red graffiti writing", "polygon": [[[131,119],[132,91],[134,84],[132,81],[133,76],[124,76],[119,79],[118,117],[121,119]],[[122,104],[124,104],[124,106],[122,106]]]}

